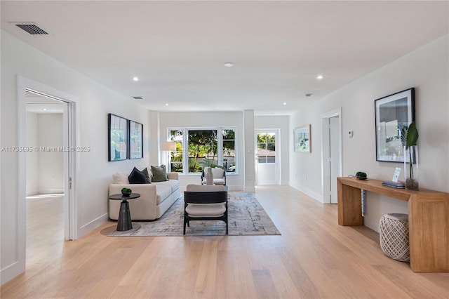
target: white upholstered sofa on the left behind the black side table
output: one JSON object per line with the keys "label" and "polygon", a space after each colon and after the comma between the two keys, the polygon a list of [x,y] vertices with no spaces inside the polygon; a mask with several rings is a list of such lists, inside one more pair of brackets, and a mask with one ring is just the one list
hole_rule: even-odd
{"label": "white upholstered sofa on the left behind the black side table", "polygon": [[[122,180],[127,174],[121,174]],[[123,188],[139,193],[138,199],[130,199],[129,208],[132,220],[154,220],[161,218],[168,208],[180,197],[180,181],[177,173],[167,173],[168,179],[165,182],[152,182],[151,184],[111,184],[109,185],[109,195],[121,194]],[[125,181],[125,182],[126,182]],[[123,181],[122,181],[123,182]],[[117,220],[120,211],[119,200],[109,199],[109,218]]]}

